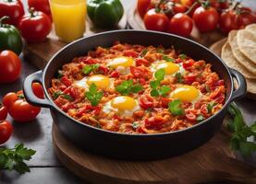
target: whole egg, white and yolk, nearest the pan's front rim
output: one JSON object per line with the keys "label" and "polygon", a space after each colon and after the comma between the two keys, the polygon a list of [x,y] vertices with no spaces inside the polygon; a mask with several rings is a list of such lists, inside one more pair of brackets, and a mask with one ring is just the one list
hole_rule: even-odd
{"label": "whole egg, white and yolk, nearest the pan's front rim", "polygon": [[103,111],[109,113],[117,112],[120,115],[132,116],[133,112],[139,110],[140,106],[136,99],[127,96],[113,98],[104,105]]}

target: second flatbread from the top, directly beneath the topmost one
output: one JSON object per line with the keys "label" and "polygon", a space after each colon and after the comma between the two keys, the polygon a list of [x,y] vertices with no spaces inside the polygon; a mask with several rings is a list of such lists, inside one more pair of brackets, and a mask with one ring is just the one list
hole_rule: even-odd
{"label": "second flatbread from the top, directly beneath the topmost one", "polygon": [[231,47],[233,55],[238,60],[238,63],[243,65],[248,71],[250,71],[250,73],[256,75],[256,63],[250,61],[250,59],[240,52],[238,48],[237,33],[238,30],[232,30],[228,34],[228,43]]}

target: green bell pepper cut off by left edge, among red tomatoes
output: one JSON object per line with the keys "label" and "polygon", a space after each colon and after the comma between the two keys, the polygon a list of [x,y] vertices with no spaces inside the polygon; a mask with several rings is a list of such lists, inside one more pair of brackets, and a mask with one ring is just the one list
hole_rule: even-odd
{"label": "green bell pepper cut off by left edge, among red tomatoes", "polygon": [[18,29],[12,25],[4,24],[8,17],[0,18],[0,51],[10,50],[18,55],[22,52],[23,42]]}

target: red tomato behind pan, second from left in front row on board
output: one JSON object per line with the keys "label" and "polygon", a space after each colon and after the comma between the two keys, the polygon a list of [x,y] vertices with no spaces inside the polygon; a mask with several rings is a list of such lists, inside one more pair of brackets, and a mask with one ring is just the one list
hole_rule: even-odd
{"label": "red tomato behind pan, second from left in front row on board", "polygon": [[193,21],[189,16],[178,13],[171,18],[168,32],[174,33],[183,37],[189,37],[193,29]]}

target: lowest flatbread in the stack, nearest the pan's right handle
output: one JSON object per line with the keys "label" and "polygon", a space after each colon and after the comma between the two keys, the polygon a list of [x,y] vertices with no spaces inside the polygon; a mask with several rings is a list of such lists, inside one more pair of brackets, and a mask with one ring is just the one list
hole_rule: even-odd
{"label": "lowest flatbread in the stack, nearest the pan's right handle", "polygon": [[238,63],[238,60],[234,57],[228,42],[226,42],[222,48],[221,57],[230,68],[238,70],[246,78],[256,79],[256,75],[250,73],[250,71],[248,71],[243,65]]}

